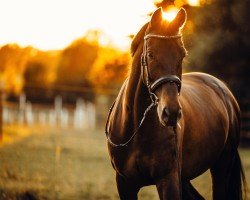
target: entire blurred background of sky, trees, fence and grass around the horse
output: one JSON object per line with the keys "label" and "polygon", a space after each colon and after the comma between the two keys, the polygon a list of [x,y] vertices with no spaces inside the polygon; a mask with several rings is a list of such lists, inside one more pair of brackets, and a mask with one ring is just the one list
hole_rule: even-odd
{"label": "entire blurred background of sky, trees, fence and grass around the horse", "polygon": [[[238,100],[250,182],[249,0],[0,0],[0,199],[118,199],[104,124],[133,35],[160,6],[187,11],[184,72]],[[211,199],[209,173],[193,183]]]}

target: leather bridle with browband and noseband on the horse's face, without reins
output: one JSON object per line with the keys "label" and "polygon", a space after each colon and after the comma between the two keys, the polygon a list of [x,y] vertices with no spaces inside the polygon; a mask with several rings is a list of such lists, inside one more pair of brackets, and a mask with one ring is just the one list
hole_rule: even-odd
{"label": "leather bridle with browband and noseband on the horse's face, without reins", "polygon": [[170,35],[170,36],[148,34],[144,37],[144,46],[143,46],[143,52],[141,55],[141,76],[142,76],[143,83],[148,88],[152,102],[154,102],[154,104],[157,104],[158,98],[155,94],[156,89],[164,83],[175,83],[178,88],[178,93],[180,93],[181,80],[176,75],[167,75],[167,76],[160,77],[154,82],[150,81],[150,75],[149,75],[148,63],[147,63],[147,39],[149,38],[164,39],[164,40],[178,39],[178,38],[181,38],[181,34]]}

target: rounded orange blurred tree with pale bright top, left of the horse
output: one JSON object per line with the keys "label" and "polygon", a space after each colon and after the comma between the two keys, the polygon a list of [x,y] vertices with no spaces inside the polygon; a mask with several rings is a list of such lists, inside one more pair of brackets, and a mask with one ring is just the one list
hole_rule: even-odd
{"label": "rounded orange blurred tree with pale bright top, left of the horse", "polygon": [[56,84],[90,87],[88,74],[98,56],[98,33],[88,32],[64,49],[57,68]]}

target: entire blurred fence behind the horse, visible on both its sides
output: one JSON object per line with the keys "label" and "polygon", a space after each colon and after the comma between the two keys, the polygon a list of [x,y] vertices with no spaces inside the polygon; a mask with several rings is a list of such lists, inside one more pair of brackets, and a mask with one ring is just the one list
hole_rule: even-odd
{"label": "entire blurred fence behind the horse, visible on both its sides", "polygon": [[[54,105],[41,105],[27,102],[25,95],[22,94],[18,103],[2,103],[1,117],[2,123],[7,125],[89,129],[96,128],[98,121],[103,123],[108,112],[108,105],[109,98],[106,95],[99,95],[97,104],[78,99],[75,105],[64,105],[62,98],[57,96]],[[250,101],[241,102],[241,110],[242,138],[250,139]]]}

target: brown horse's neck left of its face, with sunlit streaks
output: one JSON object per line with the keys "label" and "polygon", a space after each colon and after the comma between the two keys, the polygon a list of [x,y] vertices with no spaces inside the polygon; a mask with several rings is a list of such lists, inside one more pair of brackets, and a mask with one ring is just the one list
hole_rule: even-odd
{"label": "brown horse's neck left of its face, with sunlit streaks", "polygon": [[147,88],[141,80],[140,61],[134,61],[111,114],[110,128],[113,136],[121,139],[133,134],[150,103],[148,99]]}

